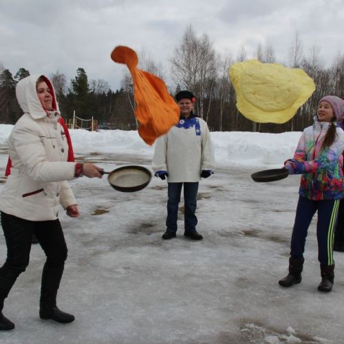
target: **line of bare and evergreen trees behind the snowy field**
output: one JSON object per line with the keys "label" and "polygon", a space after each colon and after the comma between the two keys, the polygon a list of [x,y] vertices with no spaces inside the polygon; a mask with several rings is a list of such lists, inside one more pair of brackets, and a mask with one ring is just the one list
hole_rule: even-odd
{"label": "line of bare and evergreen trees behind the snowy field", "polygon": [[[281,63],[286,67],[301,68],[314,80],[316,91],[288,122],[282,125],[256,123],[241,115],[235,106],[235,90],[228,78],[228,69],[233,63],[248,59],[245,48],[241,47],[235,57],[229,52],[220,55],[208,35],[197,36],[191,25],[184,31],[171,57],[171,78],[175,87],[169,90],[172,95],[181,89],[193,92],[197,96],[195,112],[208,122],[208,127],[213,131],[302,131],[312,123],[323,96],[333,94],[344,98],[344,54],[338,53],[332,65],[324,67],[320,47],[313,45],[304,54],[298,33],[290,44],[288,61],[277,61],[274,47],[261,43],[250,58],[257,58],[263,63]],[[166,79],[161,63],[155,63],[144,52],[141,52],[139,61],[141,69]],[[15,87],[19,80],[28,75],[28,69],[21,67],[13,76],[9,69],[0,64],[1,123],[14,124],[21,116]],[[133,83],[128,73],[123,75],[120,89],[116,91],[111,90],[103,79],[89,80],[82,67],[76,70],[76,76],[69,83],[66,76],[58,71],[49,77],[54,84],[63,118],[72,118],[75,111],[81,118],[93,116],[103,123],[104,129],[137,129]]]}

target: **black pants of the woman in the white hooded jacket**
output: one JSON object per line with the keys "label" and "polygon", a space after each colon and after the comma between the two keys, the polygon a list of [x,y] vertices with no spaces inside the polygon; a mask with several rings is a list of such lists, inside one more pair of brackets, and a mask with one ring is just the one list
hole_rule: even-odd
{"label": "black pants of the woman in the white hooded jacket", "polygon": [[42,273],[41,307],[56,306],[56,294],[67,259],[60,221],[28,221],[1,212],[1,225],[6,239],[7,259],[0,268],[0,307],[17,277],[28,267],[33,234],[47,257]]}

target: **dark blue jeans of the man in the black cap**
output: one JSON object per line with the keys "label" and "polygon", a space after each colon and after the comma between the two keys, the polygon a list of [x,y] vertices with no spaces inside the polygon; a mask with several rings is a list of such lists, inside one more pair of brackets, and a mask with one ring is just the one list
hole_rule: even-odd
{"label": "dark blue jeans of the man in the black cap", "polygon": [[167,218],[166,230],[177,231],[178,204],[180,202],[180,193],[184,184],[184,230],[186,232],[195,232],[197,217],[195,215],[197,206],[198,182],[193,183],[168,183],[167,200]]}

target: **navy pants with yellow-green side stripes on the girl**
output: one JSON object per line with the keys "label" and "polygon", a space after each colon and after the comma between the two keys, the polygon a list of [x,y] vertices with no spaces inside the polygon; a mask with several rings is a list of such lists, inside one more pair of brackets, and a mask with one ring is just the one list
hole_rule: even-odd
{"label": "navy pants with yellow-green side stripes on the girl", "polygon": [[316,238],[318,239],[318,259],[324,266],[334,264],[333,240],[334,229],[338,215],[339,200],[313,201],[306,197],[299,197],[297,214],[295,216],[290,255],[294,259],[301,259],[305,252],[305,239],[313,215],[318,211],[316,223]]}

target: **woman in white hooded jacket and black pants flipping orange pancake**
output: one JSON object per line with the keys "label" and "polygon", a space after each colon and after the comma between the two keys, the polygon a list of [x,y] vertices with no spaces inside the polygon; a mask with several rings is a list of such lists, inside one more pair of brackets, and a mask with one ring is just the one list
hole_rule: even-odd
{"label": "woman in white hooded jacket and black pants flipping orange pancake", "polygon": [[16,96],[23,109],[10,134],[10,175],[0,195],[1,225],[8,255],[0,268],[0,330],[14,323],[2,314],[3,301],[29,264],[32,235],[47,257],[41,282],[39,315],[59,323],[74,321],[72,314],[56,307],[67,246],[58,220],[59,204],[67,215],[78,217],[76,200],[67,180],[86,175],[101,178],[94,164],[67,161],[69,147],[61,125],[54,87],[42,75],[19,81]]}

